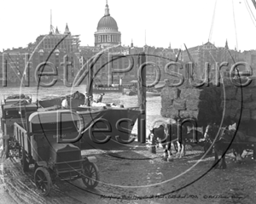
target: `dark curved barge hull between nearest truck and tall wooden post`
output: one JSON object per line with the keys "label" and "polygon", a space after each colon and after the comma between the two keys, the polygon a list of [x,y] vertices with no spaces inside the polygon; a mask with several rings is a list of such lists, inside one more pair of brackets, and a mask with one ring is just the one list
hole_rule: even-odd
{"label": "dark curved barge hull between nearest truck and tall wooden post", "polygon": [[140,114],[137,110],[108,108],[92,119],[95,112],[90,111],[88,114],[78,111],[87,124],[80,141],[82,150],[110,150],[125,145],[125,141],[131,138],[132,128]]}

